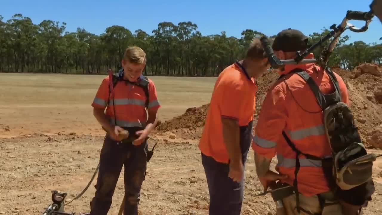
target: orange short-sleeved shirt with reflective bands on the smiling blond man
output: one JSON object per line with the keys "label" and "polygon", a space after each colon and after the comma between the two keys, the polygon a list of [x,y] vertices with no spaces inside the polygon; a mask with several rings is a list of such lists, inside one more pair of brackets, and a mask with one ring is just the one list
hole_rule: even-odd
{"label": "orange short-sleeved shirt with reflective bands on the smiling blond man", "polygon": [[[149,80],[149,105],[148,110],[160,108],[157,98],[157,91],[154,82]],[[105,109],[105,115],[110,117],[110,123],[115,125],[113,100],[110,96],[109,105],[109,77],[102,80],[101,85],[95,94],[92,106],[94,108]],[[138,80],[139,81],[139,80]],[[117,125],[120,127],[146,127],[146,95],[144,90],[136,85],[125,81],[118,81],[114,87],[114,104]]]}

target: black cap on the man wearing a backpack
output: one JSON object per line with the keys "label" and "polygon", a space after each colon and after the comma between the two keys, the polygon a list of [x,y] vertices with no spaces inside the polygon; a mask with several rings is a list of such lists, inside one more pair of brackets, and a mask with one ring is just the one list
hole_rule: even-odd
{"label": "black cap on the man wearing a backpack", "polygon": [[295,52],[308,48],[309,37],[296,29],[285,29],[278,33],[273,41],[272,49],[275,51]]}

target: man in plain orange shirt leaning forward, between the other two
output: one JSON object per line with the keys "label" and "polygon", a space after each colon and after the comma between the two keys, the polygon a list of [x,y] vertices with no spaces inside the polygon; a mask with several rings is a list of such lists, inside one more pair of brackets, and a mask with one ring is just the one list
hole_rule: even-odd
{"label": "man in plain orange shirt leaning forward, between the other two", "polygon": [[220,73],[199,143],[210,195],[209,215],[239,215],[252,140],[256,79],[270,67],[259,39],[244,60]]}

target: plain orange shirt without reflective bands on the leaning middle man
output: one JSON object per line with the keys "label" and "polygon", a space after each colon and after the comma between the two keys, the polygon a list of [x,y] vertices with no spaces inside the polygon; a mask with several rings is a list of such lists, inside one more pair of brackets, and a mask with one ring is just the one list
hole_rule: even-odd
{"label": "plain orange shirt without reflective bands on the leaning middle man", "polygon": [[257,86],[244,68],[236,62],[225,68],[217,78],[212,92],[206,123],[199,142],[201,153],[215,161],[228,163],[221,117],[236,119],[240,126],[240,147],[243,157],[251,147],[252,122]]}

